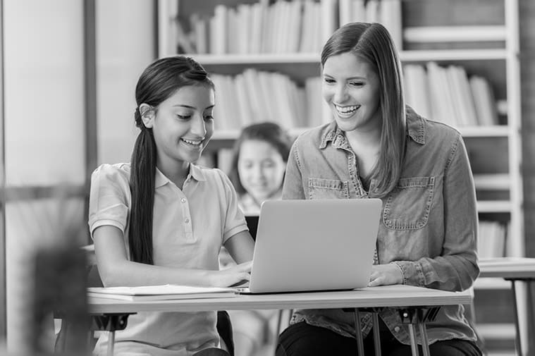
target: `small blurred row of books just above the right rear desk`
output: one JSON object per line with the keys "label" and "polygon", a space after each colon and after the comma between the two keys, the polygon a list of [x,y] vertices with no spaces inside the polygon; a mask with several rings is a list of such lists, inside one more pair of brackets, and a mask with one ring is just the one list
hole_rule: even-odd
{"label": "small blurred row of books just above the right rear desk", "polygon": [[477,250],[480,259],[505,256],[508,226],[498,221],[479,221]]}

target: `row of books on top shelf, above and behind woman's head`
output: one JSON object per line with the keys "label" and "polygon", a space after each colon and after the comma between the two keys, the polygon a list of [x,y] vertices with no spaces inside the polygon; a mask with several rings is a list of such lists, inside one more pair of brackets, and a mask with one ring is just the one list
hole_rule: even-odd
{"label": "row of books on top shelf, above and behind woman's head", "polygon": [[178,23],[178,53],[318,53],[339,25],[356,20],[383,23],[398,48],[402,40],[400,0],[260,0],[218,4],[214,16],[193,13],[187,20]]}

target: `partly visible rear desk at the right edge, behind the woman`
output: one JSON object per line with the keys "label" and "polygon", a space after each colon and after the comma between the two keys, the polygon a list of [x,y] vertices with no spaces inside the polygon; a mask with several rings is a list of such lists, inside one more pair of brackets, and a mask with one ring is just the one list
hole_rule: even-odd
{"label": "partly visible rear desk at the right edge, behind the woman", "polygon": [[[519,313],[517,307],[517,291],[515,282],[527,284],[527,298],[531,302],[531,284],[535,280],[535,258],[526,257],[500,257],[493,259],[481,259],[479,261],[479,278],[503,278],[511,282],[512,300],[515,307],[515,345],[518,355],[522,356],[522,338],[520,333]],[[535,311],[528,314],[528,325],[531,330],[535,330]]]}

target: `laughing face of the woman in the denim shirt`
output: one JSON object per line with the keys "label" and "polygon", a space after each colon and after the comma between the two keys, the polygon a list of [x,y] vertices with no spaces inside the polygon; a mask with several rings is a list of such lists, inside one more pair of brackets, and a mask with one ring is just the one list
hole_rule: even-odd
{"label": "laughing face of the woman in the denim shirt", "polygon": [[366,61],[346,52],[324,64],[321,92],[340,129],[369,130],[381,125],[379,76]]}

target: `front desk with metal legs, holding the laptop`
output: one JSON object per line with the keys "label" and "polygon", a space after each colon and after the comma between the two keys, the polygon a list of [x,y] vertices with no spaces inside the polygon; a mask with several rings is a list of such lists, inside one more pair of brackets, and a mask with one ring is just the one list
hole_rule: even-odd
{"label": "front desk with metal legs, holding the laptop", "polygon": [[[126,302],[102,298],[90,298],[89,309],[94,315],[128,314],[135,312],[192,312],[229,309],[330,309],[351,308],[355,312],[355,329],[357,331],[358,355],[364,355],[362,334],[360,333],[359,311],[368,308],[393,307],[400,309],[400,316],[409,324],[412,355],[418,355],[415,327],[422,333],[422,349],[429,355],[429,345],[425,322],[431,321],[438,307],[442,305],[469,304],[472,295],[469,291],[461,293],[446,292],[412,286],[381,286],[359,290],[314,292],[314,293],[278,293],[264,295],[238,295],[236,297],[206,298],[196,300],[161,300],[151,302]],[[433,311],[433,313],[427,313]],[[374,341],[376,355],[379,343],[378,318],[374,313]],[[113,333],[113,330],[111,330]],[[359,337],[360,336],[360,337]],[[110,340],[113,336],[110,337]],[[112,344],[112,343],[110,343]],[[379,353],[378,353],[379,351]],[[111,350],[113,352],[113,349]]]}

